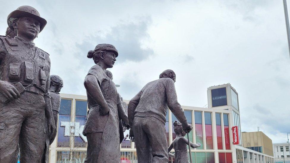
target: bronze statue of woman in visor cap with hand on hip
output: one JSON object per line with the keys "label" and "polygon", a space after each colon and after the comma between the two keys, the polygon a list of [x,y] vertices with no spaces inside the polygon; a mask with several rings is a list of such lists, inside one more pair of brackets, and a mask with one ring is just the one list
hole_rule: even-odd
{"label": "bronze statue of woman in visor cap with hand on hip", "polygon": [[121,102],[115,83],[105,73],[107,68],[113,67],[117,56],[118,51],[111,44],[98,44],[87,56],[93,58],[96,65],[84,80],[90,108],[83,129],[88,140],[85,162],[120,162],[117,104]]}

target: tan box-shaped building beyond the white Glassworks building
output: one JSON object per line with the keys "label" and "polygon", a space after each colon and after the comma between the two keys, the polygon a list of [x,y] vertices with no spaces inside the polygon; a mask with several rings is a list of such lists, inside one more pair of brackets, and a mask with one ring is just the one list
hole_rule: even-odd
{"label": "tan box-shaped building beyond the white Glassworks building", "polygon": [[274,156],[272,140],[263,132],[242,132],[242,139],[243,147]]}

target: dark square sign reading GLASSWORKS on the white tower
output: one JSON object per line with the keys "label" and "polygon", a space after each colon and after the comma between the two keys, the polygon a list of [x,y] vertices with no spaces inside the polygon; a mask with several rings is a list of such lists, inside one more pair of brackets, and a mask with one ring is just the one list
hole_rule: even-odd
{"label": "dark square sign reading GLASSWORKS on the white tower", "polygon": [[212,89],[212,107],[227,105],[226,87]]}

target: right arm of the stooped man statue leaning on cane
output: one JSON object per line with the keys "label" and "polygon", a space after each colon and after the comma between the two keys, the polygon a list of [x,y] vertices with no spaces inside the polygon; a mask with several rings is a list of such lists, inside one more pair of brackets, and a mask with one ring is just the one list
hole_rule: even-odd
{"label": "right arm of the stooped man statue leaning on cane", "polygon": [[175,91],[174,81],[170,78],[166,80],[166,99],[167,105],[175,117],[182,123],[187,123],[184,111],[182,110],[181,105],[177,101],[177,95]]}

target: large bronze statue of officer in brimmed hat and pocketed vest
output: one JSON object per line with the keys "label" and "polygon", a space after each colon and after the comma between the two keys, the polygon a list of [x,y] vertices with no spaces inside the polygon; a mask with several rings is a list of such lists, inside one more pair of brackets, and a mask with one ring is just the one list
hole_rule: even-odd
{"label": "large bronze statue of officer in brimmed hat and pocketed vest", "polygon": [[0,162],[17,162],[18,142],[20,162],[41,162],[45,114],[49,132],[56,132],[48,92],[49,55],[33,43],[46,20],[33,7],[21,6],[7,23],[17,36],[0,36]]}

